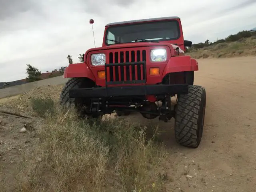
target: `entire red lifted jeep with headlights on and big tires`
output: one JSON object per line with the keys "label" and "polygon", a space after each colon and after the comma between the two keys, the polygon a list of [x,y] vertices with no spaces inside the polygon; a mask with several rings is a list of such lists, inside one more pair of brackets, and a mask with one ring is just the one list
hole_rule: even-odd
{"label": "entire red lifted jeep with headlights on and big tires", "polygon": [[[183,38],[178,17],[116,22],[106,25],[102,47],[70,64],[70,78],[60,104],[74,104],[80,114],[102,116],[132,111],[167,122],[175,118],[176,141],[187,147],[201,142],[206,91],[194,85],[198,62],[184,55],[191,41]],[[171,102],[175,96],[177,102]]]}

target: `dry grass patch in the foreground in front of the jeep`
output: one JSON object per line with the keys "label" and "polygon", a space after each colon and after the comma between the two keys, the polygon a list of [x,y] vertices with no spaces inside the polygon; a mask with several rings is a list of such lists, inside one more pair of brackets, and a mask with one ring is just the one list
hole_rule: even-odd
{"label": "dry grass patch in the foreground in front of the jeep", "polygon": [[74,110],[62,122],[65,111],[56,106],[46,98],[32,101],[45,117],[38,131],[43,141],[34,151],[41,159],[24,165],[19,190],[165,191],[166,178],[159,176],[164,148],[146,139],[145,128],[115,118],[78,119]]}

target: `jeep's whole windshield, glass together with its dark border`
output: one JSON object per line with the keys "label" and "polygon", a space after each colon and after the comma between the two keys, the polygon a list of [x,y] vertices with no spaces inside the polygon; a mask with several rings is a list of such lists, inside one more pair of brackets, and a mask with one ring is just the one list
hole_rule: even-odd
{"label": "jeep's whole windshield, glass together with its dark border", "polygon": [[107,45],[142,41],[158,42],[178,39],[180,28],[177,20],[167,20],[110,26],[106,34]]}

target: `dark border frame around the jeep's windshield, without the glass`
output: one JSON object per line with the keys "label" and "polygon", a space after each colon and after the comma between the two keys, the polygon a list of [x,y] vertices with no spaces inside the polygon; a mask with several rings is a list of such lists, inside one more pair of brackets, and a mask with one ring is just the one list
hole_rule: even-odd
{"label": "dark border frame around the jeep's windshield, without the glass", "polygon": [[110,28],[115,28],[115,27],[118,27],[118,28],[122,28],[122,27],[127,27],[127,26],[136,26],[136,25],[141,25],[141,24],[151,24],[151,23],[163,23],[163,22],[176,22],[176,26],[177,26],[177,30],[178,30],[178,36],[176,38],[168,38],[168,39],[160,39],[160,40],[151,40],[151,41],[148,41],[148,42],[161,42],[161,41],[172,41],[172,40],[178,40],[181,36],[181,32],[180,32],[180,23],[178,22],[178,20],[176,19],[171,19],[171,20],[158,20],[158,21],[148,21],[148,22],[138,22],[138,23],[130,23],[130,24],[120,24],[120,25],[112,25],[112,26],[108,26],[107,29],[106,29],[106,32],[105,32],[105,38],[104,38],[104,43],[107,45],[107,46],[110,46],[110,45],[116,45],[116,44],[125,44],[125,43],[140,43],[140,42],[143,42],[143,41],[138,41],[138,42],[121,42],[121,43],[113,43],[113,44],[108,44],[108,31]]}

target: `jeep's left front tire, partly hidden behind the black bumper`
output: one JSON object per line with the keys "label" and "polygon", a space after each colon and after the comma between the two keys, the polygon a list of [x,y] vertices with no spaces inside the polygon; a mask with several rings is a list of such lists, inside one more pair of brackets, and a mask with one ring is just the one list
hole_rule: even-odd
{"label": "jeep's left front tire, partly hidden behind the black bumper", "polygon": [[73,88],[91,88],[94,82],[86,78],[71,78],[68,80],[60,93],[60,105],[63,107],[74,106],[80,116],[99,117],[99,115],[91,114],[88,111],[90,108],[90,100],[82,98],[70,98],[69,90]]}

